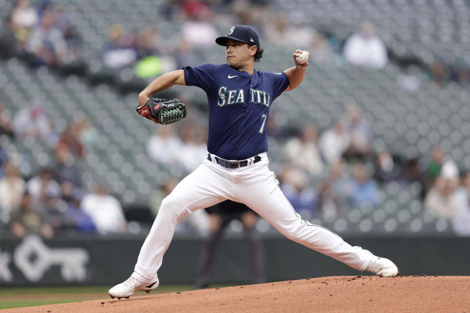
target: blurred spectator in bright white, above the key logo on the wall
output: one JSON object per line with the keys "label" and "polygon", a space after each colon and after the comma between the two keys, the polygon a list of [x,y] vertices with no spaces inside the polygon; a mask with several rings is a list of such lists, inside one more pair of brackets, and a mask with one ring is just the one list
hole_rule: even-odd
{"label": "blurred spectator in bright white, above the key logo on the wall", "polygon": [[90,216],[101,234],[126,231],[126,219],[121,204],[108,193],[106,187],[100,185],[94,193],[86,194],[80,208]]}

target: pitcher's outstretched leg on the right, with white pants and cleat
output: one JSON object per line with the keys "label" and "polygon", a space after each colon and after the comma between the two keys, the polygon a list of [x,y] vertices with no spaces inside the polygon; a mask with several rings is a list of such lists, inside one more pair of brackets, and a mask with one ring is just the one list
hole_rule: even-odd
{"label": "pitcher's outstretched leg on the right, with white pants and cleat", "polygon": [[[265,159],[265,158],[264,158]],[[278,186],[268,161],[237,171],[237,200],[248,205],[287,238],[326,254],[352,268],[381,276],[395,276],[398,269],[388,259],[378,258],[359,246],[351,246],[330,230],[302,220]]]}

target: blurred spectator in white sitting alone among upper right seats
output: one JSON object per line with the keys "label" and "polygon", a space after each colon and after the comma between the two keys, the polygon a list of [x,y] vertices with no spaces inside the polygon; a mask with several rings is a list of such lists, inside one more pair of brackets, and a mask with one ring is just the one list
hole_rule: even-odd
{"label": "blurred spectator in white sitting alone among upper right seats", "polygon": [[348,38],[343,52],[346,60],[359,66],[381,68],[388,62],[387,49],[370,22],[362,23],[360,31]]}

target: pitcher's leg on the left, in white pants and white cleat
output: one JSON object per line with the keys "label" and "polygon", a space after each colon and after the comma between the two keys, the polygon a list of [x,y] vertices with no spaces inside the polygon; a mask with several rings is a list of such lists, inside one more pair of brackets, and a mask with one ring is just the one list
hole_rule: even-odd
{"label": "pitcher's leg on the left, in white pants and white cleat", "polygon": [[157,217],[141,247],[134,273],[125,282],[111,288],[112,298],[128,298],[134,291],[158,287],[157,271],[162,265],[179,219],[189,213],[230,198],[232,185],[227,172],[205,160],[183,179],[162,201]]}

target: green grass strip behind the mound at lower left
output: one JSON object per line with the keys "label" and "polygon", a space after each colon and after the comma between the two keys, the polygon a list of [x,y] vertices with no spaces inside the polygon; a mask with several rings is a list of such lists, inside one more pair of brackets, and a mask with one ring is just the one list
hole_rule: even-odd
{"label": "green grass strip behind the mound at lower left", "polygon": [[[216,287],[216,286],[214,286]],[[38,305],[79,302],[109,297],[110,286],[0,288],[0,310]],[[191,285],[160,286],[150,294],[192,290]],[[135,295],[145,295],[137,291]],[[110,298],[111,300],[111,298]]]}

